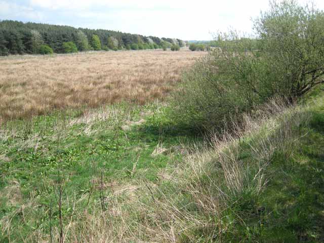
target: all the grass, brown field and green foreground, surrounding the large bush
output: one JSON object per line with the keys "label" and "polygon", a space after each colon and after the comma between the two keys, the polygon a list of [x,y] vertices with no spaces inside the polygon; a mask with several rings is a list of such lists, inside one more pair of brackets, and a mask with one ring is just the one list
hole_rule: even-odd
{"label": "all the grass, brown field and green foreground, surrounding the large bush", "polygon": [[[25,66],[31,84],[24,85],[29,92],[9,83],[1,88],[7,100],[10,92],[16,95],[17,107],[9,102],[1,108],[0,242],[322,242],[324,87],[294,105],[273,100],[257,116],[242,116],[235,134],[206,141],[176,123],[165,102],[182,71],[201,55],[139,51],[1,59],[7,73],[2,83],[12,72],[12,83],[19,84],[14,72],[23,74]],[[132,69],[118,69],[118,58]],[[88,61],[102,83],[91,86]],[[106,62],[115,63],[115,86],[101,95],[119,96],[87,105],[111,81],[102,77]],[[33,70],[53,89],[38,87]],[[63,83],[79,94],[75,100]],[[159,87],[158,96],[151,86]],[[143,87],[146,95],[136,96]]]}

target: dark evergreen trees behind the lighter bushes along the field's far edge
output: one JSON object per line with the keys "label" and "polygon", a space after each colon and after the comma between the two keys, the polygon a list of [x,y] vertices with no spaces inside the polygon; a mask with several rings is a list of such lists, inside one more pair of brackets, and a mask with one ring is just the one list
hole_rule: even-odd
{"label": "dark evergreen trees behind the lighter bushes along the field's far edge", "polygon": [[[120,31],[77,29],[71,26],[4,20],[0,21],[0,55],[36,53],[36,49],[43,44],[51,47],[55,53],[64,53],[63,43],[67,42],[73,42],[78,50],[86,51],[89,49],[89,43],[93,45],[93,35],[98,36],[100,43],[100,46],[94,48],[95,50],[101,50],[108,46],[110,36],[117,40],[118,46],[116,48],[118,49],[131,48],[132,44],[137,44],[137,47],[140,45],[140,48],[147,47],[145,44],[153,45],[153,47],[161,45],[161,39],[155,36],[148,38],[143,35]],[[171,38],[163,39],[172,43]]]}

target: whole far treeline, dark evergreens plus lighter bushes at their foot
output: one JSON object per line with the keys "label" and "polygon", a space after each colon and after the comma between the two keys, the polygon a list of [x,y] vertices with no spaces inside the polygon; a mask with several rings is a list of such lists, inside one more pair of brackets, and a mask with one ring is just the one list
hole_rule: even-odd
{"label": "whole far treeline, dark evergreens plus lighter bushes at their foot", "polygon": [[0,21],[0,55],[71,53],[89,50],[144,50],[185,46],[181,39],[104,29]]}

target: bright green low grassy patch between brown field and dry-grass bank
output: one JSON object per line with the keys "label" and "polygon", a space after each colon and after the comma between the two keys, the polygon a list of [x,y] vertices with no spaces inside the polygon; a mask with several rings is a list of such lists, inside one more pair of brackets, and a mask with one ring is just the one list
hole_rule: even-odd
{"label": "bright green low grassy patch between brown field and dry-grass bank", "polygon": [[[68,218],[72,206],[66,198],[88,195],[92,180],[97,189],[90,204],[100,201],[101,173],[105,185],[157,183],[159,172],[172,170],[182,159],[175,146],[199,140],[195,135],[188,136],[187,130],[175,127],[169,119],[169,108],[161,104],[128,107],[125,103],[107,108],[108,117],[90,123],[71,123],[82,117],[82,112],[66,111],[28,121],[11,121],[3,128],[0,219],[8,217],[10,227],[3,231],[1,242],[20,242],[38,229],[49,234],[51,201],[55,214],[52,224],[58,224],[54,194],[58,190],[59,171],[61,180],[65,178],[63,215]],[[145,121],[132,125],[141,119]],[[125,125],[128,127],[123,129]],[[168,150],[154,156],[158,145]],[[105,196],[113,193],[113,189],[106,186]],[[82,210],[86,205],[84,200],[76,207]],[[5,228],[4,220],[0,223]]]}

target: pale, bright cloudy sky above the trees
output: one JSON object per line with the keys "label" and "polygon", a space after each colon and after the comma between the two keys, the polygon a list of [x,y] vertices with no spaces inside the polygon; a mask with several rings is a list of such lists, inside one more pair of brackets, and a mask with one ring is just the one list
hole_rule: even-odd
{"label": "pale, bright cloudy sky above the trees", "polygon": [[[313,3],[324,10],[323,0]],[[201,41],[228,28],[251,33],[251,19],[267,6],[268,0],[0,0],[0,20]]]}

